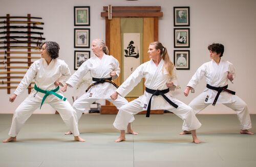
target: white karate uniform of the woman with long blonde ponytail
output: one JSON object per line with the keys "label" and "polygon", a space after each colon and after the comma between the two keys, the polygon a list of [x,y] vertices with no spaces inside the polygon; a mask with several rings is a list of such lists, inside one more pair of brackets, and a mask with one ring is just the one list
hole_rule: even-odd
{"label": "white karate uniform of the woman with long blonde ponytail", "polygon": [[[167,89],[167,81],[173,81],[174,85],[178,87],[176,69],[173,70],[173,77],[170,78],[167,71],[165,69],[163,70],[163,66],[163,59],[160,61],[158,66],[155,65],[153,60],[143,63],[123,82],[116,92],[118,92],[122,97],[126,96],[142,78],[145,78],[146,88],[152,90]],[[134,117],[133,115],[147,109],[151,96],[152,94],[144,91],[142,96],[122,106],[119,109],[113,124],[115,128],[125,130],[129,121]],[[183,130],[195,130],[201,126],[201,123],[196,118],[191,107],[173,97],[170,91],[166,93],[165,96],[177,104],[178,108],[174,108],[161,95],[159,95],[152,97],[151,109],[166,109],[173,112],[184,121],[182,126]]]}

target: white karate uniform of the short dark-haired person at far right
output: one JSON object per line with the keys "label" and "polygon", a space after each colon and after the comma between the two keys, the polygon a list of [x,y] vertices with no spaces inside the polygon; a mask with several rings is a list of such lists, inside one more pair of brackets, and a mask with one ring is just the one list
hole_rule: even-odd
{"label": "white karate uniform of the short dark-haired person at far right", "polygon": [[[221,59],[218,65],[214,60],[211,60],[197,69],[187,86],[195,89],[199,81],[205,76],[206,82],[210,86],[224,87],[228,85],[228,73],[231,73],[234,78],[236,76],[235,72],[236,70],[230,62]],[[203,93],[193,99],[188,105],[191,106],[194,109],[195,114],[197,114],[214,102],[217,93],[218,91],[206,88]],[[251,120],[247,104],[240,97],[222,91],[216,104],[218,103],[224,104],[237,112],[242,130],[251,128]]]}

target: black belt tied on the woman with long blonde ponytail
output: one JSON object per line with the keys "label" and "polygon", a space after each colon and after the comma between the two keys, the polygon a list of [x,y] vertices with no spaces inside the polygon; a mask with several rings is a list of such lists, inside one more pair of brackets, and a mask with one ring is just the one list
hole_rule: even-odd
{"label": "black belt tied on the woman with long blonde ponytail", "polygon": [[146,117],[150,117],[150,108],[151,108],[151,99],[153,96],[162,95],[163,98],[172,106],[175,108],[178,108],[178,105],[172,102],[170,99],[168,99],[164,94],[169,92],[169,88],[165,90],[153,90],[146,88],[146,92],[152,94],[150,101],[148,102],[147,111],[146,111]]}

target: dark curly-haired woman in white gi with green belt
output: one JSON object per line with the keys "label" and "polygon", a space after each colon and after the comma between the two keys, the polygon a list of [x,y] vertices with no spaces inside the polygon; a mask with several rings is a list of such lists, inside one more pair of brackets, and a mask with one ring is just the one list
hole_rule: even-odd
{"label": "dark curly-haired woman in white gi with green belt", "polygon": [[47,41],[42,45],[41,58],[36,60],[28,69],[14,94],[10,97],[13,102],[16,96],[22,94],[35,80],[35,86],[30,95],[17,107],[12,118],[9,138],[3,142],[16,141],[16,136],[34,110],[42,103],[50,104],[57,110],[74,134],[74,140],[84,142],[79,136],[76,112],[71,104],[59,92],[58,85],[64,84],[71,75],[68,65],[58,58],[59,45],[56,42]]}

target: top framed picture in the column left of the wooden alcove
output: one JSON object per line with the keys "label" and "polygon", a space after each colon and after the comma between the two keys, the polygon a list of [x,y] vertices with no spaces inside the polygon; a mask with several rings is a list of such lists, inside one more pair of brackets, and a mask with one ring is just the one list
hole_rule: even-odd
{"label": "top framed picture in the column left of the wooden alcove", "polygon": [[90,7],[74,7],[74,25],[90,25]]}

